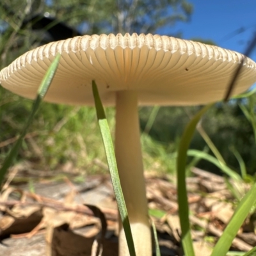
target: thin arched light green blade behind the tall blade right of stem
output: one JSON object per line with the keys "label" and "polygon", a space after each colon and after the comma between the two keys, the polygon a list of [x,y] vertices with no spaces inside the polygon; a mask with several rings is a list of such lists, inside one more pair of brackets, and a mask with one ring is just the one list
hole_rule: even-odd
{"label": "thin arched light green blade behind the tall blade right of stem", "polygon": [[210,154],[207,154],[206,152],[203,152],[200,150],[195,150],[195,149],[190,149],[190,150],[188,150],[188,156],[193,156],[193,157],[196,156],[196,157],[205,159],[205,160],[209,161],[210,163],[218,166],[218,168],[220,168],[220,170],[223,173],[227,174],[230,178],[232,178],[234,180],[238,180],[238,181],[243,181],[243,179],[240,177],[239,174],[234,172],[227,165],[225,165],[223,163],[221,164],[220,161],[218,161],[218,159],[216,159],[216,157],[211,156]]}

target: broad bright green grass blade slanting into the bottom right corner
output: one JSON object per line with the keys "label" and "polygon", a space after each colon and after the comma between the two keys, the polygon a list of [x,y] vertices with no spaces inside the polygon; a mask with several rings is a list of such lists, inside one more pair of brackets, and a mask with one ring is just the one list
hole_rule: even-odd
{"label": "broad bright green grass blade slanting into the bottom right corner", "polygon": [[246,193],[241,202],[239,202],[236,211],[234,212],[231,220],[229,221],[227,227],[225,228],[222,236],[220,237],[211,256],[226,255],[232,241],[236,237],[236,234],[243,224],[246,216],[250,212],[253,204],[256,202],[256,183],[253,184],[252,188]]}

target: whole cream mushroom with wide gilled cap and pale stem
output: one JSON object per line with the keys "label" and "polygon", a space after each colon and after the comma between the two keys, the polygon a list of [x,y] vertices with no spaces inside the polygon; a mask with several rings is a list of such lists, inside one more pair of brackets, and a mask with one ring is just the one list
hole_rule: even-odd
{"label": "whole cream mushroom with wide gilled cap and pale stem", "polygon": [[[152,255],[138,106],[188,106],[221,100],[243,58],[233,94],[244,92],[256,81],[256,63],[237,52],[169,36],[85,35],[26,52],[1,70],[1,85],[35,99],[58,52],[60,65],[45,100],[93,105],[95,80],[102,103],[116,106],[116,161],[136,254]],[[122,225],[119,241],[119,255],[129,255]]]}

